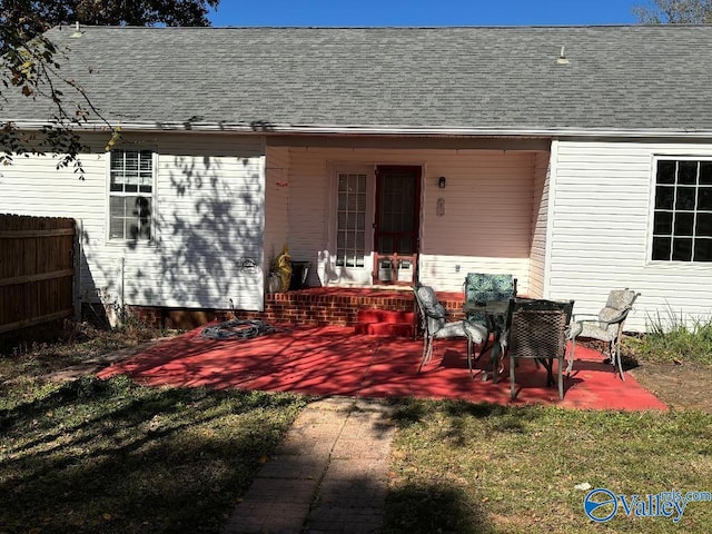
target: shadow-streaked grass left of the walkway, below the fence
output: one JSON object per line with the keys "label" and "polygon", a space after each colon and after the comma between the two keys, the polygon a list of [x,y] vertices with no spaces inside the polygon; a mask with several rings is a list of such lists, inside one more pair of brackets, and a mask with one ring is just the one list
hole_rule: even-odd
{"label": "shadow-streaked grass left of the walkway, below the fence", "polygon": [[86,375],[156,335],[87,329],[0,357],[0,532],[221,531],[307,399]]}

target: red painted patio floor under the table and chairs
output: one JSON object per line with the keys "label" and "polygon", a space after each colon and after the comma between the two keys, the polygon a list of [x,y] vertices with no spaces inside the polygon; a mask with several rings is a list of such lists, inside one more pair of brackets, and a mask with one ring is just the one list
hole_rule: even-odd
{"label": "red painted patio floor under the table and chairs", "polygon": [[471,378],[463,340],[437,340],[434,357],[418,374],[422,340],[356,334],[344,326],[278,326],[251,339],[201,337],[202,327],[161,342],[103,369],[102,378],[128,374],[148,385],[237,387],[269,392],[358,397],[453,398],[500,405],[546,404],[580,409],[665,411],[668,406],[630,374],[625,382],[603,355],[576,346],[564,399],[544,387],[543,369],[522,362],[521,388],[510,398],[508,370],[497,384],[482,380],[486,356]]}

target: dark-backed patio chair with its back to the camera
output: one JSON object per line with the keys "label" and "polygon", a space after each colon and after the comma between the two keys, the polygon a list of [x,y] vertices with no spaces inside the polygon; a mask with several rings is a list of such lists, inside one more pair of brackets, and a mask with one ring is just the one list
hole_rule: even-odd
{"label": "dark-backed patio chair with its back to the camera", "polygon": [[554,360],[557,362],[558,398],[564,398],[563,368],[566,355],[568,323],[574,308],[573,300],[545,299],[510,300],[508,329],[500,343],[502,354],[510,356],[510,389],[516,397],[515,367],[517,359],[533,358],[546,369],[546,386],[554,385]]}

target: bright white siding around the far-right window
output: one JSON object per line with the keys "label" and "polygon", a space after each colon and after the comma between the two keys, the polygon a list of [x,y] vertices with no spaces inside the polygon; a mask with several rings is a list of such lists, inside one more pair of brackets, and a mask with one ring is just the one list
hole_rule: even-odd
{"label": "bright white siding around the far-right window", "polygon": [[712,157],[706,145],[575,141],[558,144],[547,295],[597,313],[613,288],[641,293],[626,329],[651,320],[693,324],[712,310],[712,266],[651,261],[656,158]]}

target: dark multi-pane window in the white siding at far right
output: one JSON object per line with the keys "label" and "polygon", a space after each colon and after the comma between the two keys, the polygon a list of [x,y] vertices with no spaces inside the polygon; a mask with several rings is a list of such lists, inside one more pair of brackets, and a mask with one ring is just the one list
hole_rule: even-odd
{"label": "dark multi-pane window in the white siding at far right", "polygon": [[712,159],[655,160],[653,261],[712,261]]}

